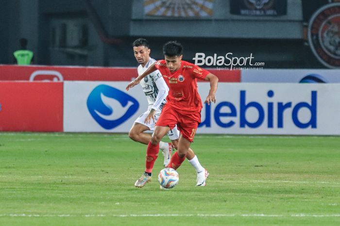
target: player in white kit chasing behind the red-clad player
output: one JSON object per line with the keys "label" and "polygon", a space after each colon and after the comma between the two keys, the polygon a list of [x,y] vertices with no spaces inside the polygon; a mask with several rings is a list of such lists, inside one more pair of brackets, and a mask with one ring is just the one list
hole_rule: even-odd
{"label": "player in white kit chasing behind the red-clad player", "polygon": [[[143,74],[143,72],[153,64],[156,60],[150,58],[149,43],[147,40],[139,38],[133,43],[134,54],[137,62],[140,64],[138,66],[138,75]],[[129,137],[142,144],[148,144],[151,139],[151,134],[145,133],[148,130],[154,130],[157,119],[161,114],[163,105],[166,103],[165,98],[168,95],[169,88],[163,79],[163,76],[158,70],[147,75],[141,82],[140,85],[148,99],[148,110],[139,116],[134,125],[132,126]],[[170,162],[172,148],[177,149],[179,131],[177,127],[173,128],[168,132],[168,136],[172,142],[165,143],[160,142],[159,149],[162,150],[164,155],[164,166],[167,166]],[[187,152],[187,159],[189,163],[196,169],[197,172],[197,184],[196,186],[205,185],[205,177],[202,177],[202,171],[205,171],[204,167],[201,166],[195,153],[189,149]],[[146,162],[151,161],[146,159]],[[136,181],[136,187],[143,187],[147,182],[151,181],[153,169],[145,169],[144,174]]]}

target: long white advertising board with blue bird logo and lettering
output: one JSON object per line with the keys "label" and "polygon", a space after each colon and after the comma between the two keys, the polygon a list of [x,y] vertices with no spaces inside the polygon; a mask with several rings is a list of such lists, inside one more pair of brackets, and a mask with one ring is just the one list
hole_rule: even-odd
{"label": "long white advertising board with blue bird logo and lettering", "polygon": [[[128,132],[147,109],[128,82],[64,82],[65,132]],[[204,101],[209,83],[198,83]],[[340,84],[220,83],[197,133],[340,135]]]}

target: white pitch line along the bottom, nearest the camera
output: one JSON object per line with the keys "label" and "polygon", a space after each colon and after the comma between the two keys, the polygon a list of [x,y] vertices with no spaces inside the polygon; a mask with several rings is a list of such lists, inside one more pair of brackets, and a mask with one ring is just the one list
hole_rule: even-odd
{"label": "white pitch line along the bottom, nearest the camera", "polygon": [[340,217],[340,214],[0,214],[0,217]]}

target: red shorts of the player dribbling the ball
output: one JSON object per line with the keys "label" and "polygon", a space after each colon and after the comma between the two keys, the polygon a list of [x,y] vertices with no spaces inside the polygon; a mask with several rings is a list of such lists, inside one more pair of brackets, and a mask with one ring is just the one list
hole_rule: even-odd
{"label": "red shorts of the player dribbling the ball", "polygon": [[156,126],[169,126],[170,129],[173,129],[177,124],[177,128],[182,136],[192,142],[200,122],[201,111],[183,112],[166,104],[162,109],[161,116],[156,122]]}

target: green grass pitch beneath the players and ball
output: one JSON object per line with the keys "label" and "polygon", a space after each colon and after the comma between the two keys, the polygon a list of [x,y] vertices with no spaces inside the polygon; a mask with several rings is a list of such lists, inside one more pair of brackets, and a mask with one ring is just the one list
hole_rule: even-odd
{"label": "green grass pitch beneath the players and ball", "polygon": [[0,225],[340,225],[339,136],[197,135],[195,187],[134,187],[146,146],[126,134],[0,133]]}

